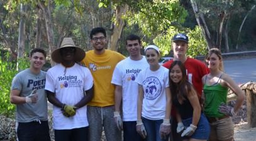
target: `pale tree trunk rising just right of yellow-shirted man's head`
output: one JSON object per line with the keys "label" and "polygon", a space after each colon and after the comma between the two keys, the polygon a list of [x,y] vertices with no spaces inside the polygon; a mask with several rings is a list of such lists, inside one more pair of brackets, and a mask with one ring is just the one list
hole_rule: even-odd
{"label": "pale tree trunk rising just right of yellow-shirted man's head", "polygon": [[123,6],[118,6],[116,8],[116,22],[112,24],[112,33],[110,38],[110,50],[116,51],[118,48],[118,41],[120,39],[121,33],[123,31],[123,27],[125,26],[125,21],[123,20],[122,16],[126,14],[126,11],[128,11],[129,6],[127,4]]}

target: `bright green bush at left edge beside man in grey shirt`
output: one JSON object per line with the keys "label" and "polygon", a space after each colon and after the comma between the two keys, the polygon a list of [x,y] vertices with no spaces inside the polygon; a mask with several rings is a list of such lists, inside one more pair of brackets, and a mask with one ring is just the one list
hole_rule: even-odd
{"label": "bright green bush at left edge beside man in grey shirt", "polygon": [[[15,110],[15,105],[9,102],[11,81],[18,71],[16,71],[16,63],[6,61],[6,58],[9,58],[9,54],[0,57],[0,114],[9,117],[14,115]],[[27,59],[21,59],[18,62],[19,70],[24,70],[29,66]]]}

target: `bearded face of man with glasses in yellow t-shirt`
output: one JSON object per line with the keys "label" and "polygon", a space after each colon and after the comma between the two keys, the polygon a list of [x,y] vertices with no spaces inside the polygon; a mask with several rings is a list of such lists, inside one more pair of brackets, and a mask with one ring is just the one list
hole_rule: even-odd
{"label": "bearded face of man with glasses in yellow t-shirt", "polygon": [[106,37],[103,33],[96,33],[92,35],[91,43],[95,51],[101,52],[106,47]]}

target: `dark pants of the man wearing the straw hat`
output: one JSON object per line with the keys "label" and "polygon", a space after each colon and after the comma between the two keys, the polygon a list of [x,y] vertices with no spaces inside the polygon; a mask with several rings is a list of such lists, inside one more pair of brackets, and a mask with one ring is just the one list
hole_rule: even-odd
{"label": "dark pants of the man wearing the straw hat", "polygon": [[89,127],[54,130],[55,141],[87,141]]}

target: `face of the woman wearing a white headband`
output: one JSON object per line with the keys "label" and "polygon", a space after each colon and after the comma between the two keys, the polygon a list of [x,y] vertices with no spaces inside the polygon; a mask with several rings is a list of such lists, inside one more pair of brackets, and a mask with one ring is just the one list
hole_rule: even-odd
{"label": "face of the woman wearing a white headband", "polygon": [[159,58],[160,55],[157,51],[153,48],[148,48],[145,51],[146,59],[149,65],[159,65]]}

